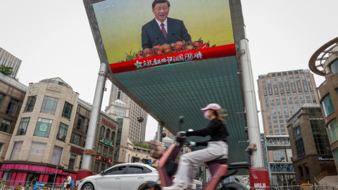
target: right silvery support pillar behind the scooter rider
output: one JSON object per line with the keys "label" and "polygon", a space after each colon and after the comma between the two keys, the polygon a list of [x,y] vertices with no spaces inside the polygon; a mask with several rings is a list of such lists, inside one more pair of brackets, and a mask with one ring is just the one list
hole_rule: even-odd
{"label": "right silvery support pillar behind the scooter rider", "polygon": [[246,122],[249,134],[249,144],[256,144],[257,151],[253,151],[251,164],[253,167],[264,167],[263,150],[261,142],[261,132],[258,122],[258,110],[256,104],[255,87],[253,84],[253,74],[251,68],[250,51],[248,39],[239,41],[239,55],[242,66],[242,80],[244,89],[244,99],[246,107]]}

